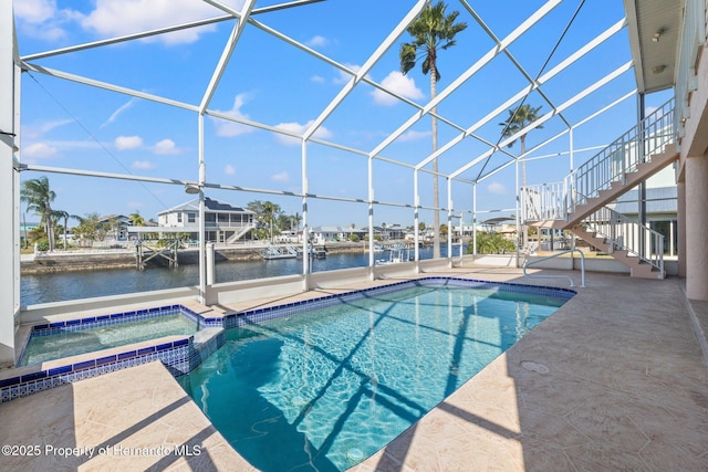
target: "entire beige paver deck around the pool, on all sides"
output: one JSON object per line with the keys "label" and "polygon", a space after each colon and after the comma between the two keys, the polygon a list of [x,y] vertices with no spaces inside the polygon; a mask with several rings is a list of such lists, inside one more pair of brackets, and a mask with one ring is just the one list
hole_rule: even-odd
{"label": "entire beige paver deck around the pool, on all sides", "polygon": [[[446,274],[564,285],[558,280],[523,279],[516,269],[470,268]],[[580,279],[577,273],[574,277]],[[589,273],[587,287],[577,289],[577,296],[353,470],[708,470],[708,368],[680,283]],[[215,312],[334,292],[339,290],[241,303]],[[708,304],[696,306],[708,308]],[[158,364],[1,405],[0,441],[202,447],[201,454],[191,458],[94,457],[59,462],[45,455],[2,458],[3,471],[64,466],[253,470]]]}

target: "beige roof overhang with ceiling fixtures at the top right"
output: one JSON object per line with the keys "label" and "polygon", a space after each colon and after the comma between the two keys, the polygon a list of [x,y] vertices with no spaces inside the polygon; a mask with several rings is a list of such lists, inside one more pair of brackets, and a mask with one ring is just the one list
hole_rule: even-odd
{"label": "beige roof overhang with ceiling fixtures at the top right", "polygon": [[674,86],[684,1],[624,0],[639,93]]}

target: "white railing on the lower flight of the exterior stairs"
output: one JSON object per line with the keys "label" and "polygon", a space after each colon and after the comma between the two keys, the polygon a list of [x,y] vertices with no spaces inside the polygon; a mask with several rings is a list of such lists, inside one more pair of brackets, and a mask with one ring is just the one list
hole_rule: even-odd
{"label": "white railing on the lower flight of the exterior stairs", "polygon": [[[582,223],[602,238],[605,238],[610,248],[608,253],[616,250],[627,251],[639,260],[650,264],[664,279],[664,234],[618,213],[607,207],[603,207],[589,214]],[[644,251],[642,251],[644,241]]]}

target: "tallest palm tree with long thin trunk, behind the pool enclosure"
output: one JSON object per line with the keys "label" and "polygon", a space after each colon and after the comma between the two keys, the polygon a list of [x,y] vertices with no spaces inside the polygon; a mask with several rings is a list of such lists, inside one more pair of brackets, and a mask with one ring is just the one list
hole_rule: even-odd
{"label": "tallest palm tree with long thin trunk, behind the pool enclosure", "polygon": [[[410,22],[407,30],[413,36],[413,42],[400,45],[400,72],[407,74],[416,62],[421,59],[421,70],[424,75],[430,74],[430,99],[437,95],[436,84],[440,80],[438,70],[438,50],[447,50],[456,44],[455,35],[467,28],[467,23],[455,23],[458,11],[450,14],[445,13],[447,6],[439,1],[435,6],[428,4],[420,14]],[[433,153],[438,149],[438,122],[435,117],[437,107],[433,108]],[[433,207],[435,207],[433,227],[433,256],[440,256],[440,216],[438,208],[440,196],[438,195],[438,159],[433,159]]]}

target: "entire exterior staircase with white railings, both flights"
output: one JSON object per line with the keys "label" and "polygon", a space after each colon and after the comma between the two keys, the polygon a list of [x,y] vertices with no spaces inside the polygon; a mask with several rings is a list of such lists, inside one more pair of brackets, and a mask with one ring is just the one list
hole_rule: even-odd
{"label": "entire exterior staircase with white railings, both flights", "polygon": [[562,182],[522,187],[524,224],[569,230],[632,276],[664,279],[664,237],[606,206],[678,159],[673,117],[671,99]]}

